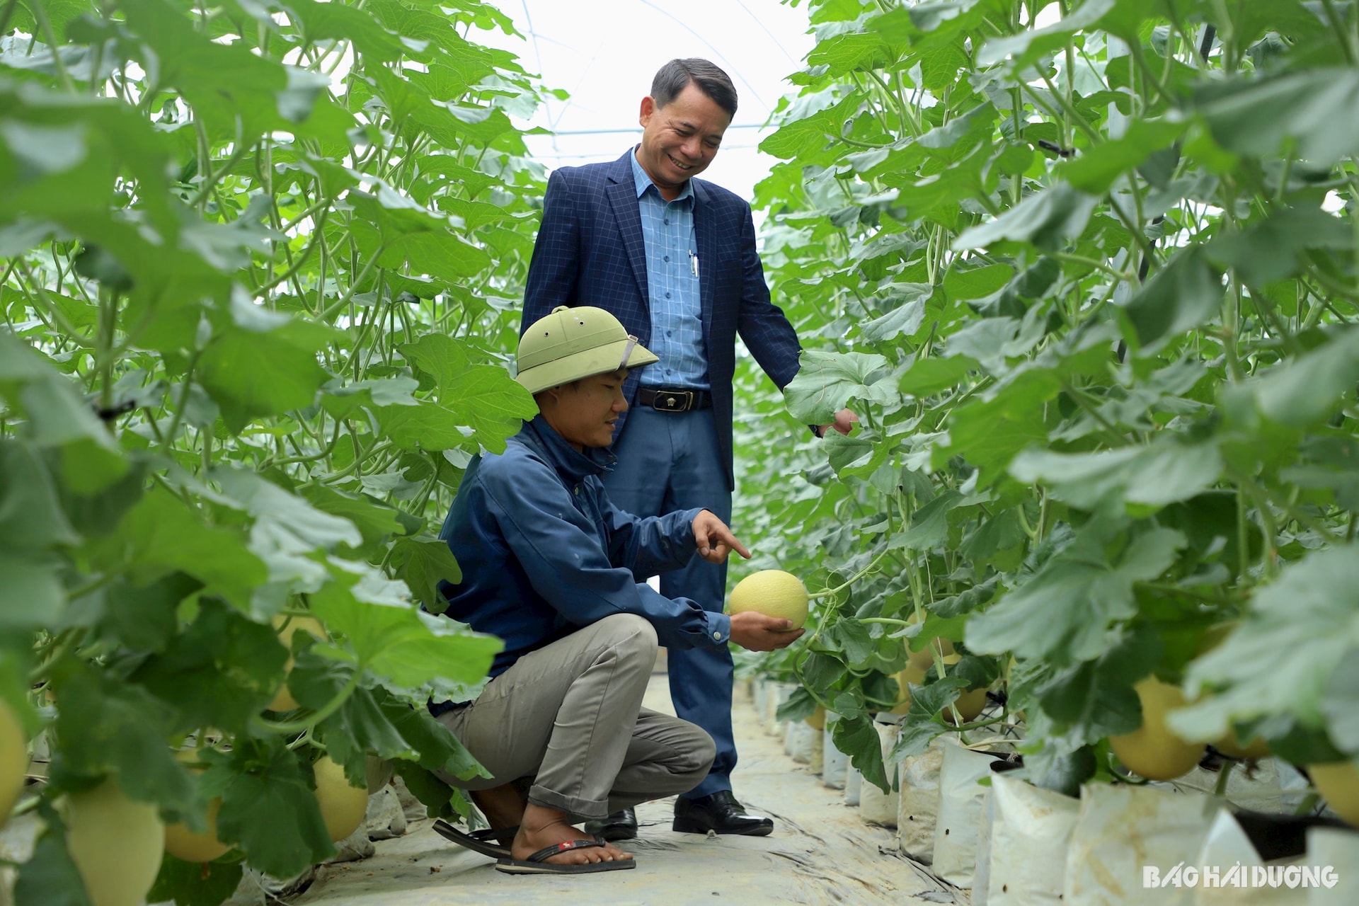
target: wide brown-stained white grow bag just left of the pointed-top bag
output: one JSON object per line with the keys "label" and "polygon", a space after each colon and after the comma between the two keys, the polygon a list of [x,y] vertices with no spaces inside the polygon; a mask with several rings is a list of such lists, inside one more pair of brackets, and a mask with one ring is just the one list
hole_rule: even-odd
{"label": "wide brown-stained white grow bag just left of the pointed-top bag", "polygon": [[1190,906],[1189,887],[1144,884],[1203,849],[1220,804],[1211,796],[1131,784],[1087,784],[1067,850],[1067,906]]}

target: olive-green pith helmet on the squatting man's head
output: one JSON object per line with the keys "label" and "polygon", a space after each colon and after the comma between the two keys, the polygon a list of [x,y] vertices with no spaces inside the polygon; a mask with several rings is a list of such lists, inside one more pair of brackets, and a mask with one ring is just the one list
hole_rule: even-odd
{"label": "olive-green pith helmet on the squatting man's head", "polygon": [[529,393],[659,361],[612,314],[593,306],[557,306],[519,338],[518,380]]}

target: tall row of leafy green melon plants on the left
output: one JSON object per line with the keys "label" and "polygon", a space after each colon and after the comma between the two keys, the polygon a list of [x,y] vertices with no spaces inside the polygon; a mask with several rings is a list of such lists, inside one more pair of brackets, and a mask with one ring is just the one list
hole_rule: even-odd
{"label": "tall row of leafy green melon plants on the left", "polygon": [[[243,863],[334,852],[313,744],[347,786],[372,757],[465,810],[439,776],[481,769],[424,705],[500,647],[438,615],[439,519],[534,412],[503,361],[544,190],[515,118],[541,95],[478,42],[511,22],[20,0],[0,27],[0,690],[50,693],[33,807],[117,776],[148,826],[215,818],[238,854],[166,856],[151,890],[204,905]],[[207,728],[190,772],[173,750]],[[79,902],[58,837],[16,906]]]}

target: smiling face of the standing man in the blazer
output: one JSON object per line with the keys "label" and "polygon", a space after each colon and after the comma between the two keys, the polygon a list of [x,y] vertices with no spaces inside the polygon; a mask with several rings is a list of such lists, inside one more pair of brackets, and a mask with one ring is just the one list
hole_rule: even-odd
{"label": "smiling face of the standing man in the blazer", "polygon": [[637,163],[662,196],[673,197],[718,156],[731,117],[690,81],[663,107],[654,98],[643,98],[640,122]]}

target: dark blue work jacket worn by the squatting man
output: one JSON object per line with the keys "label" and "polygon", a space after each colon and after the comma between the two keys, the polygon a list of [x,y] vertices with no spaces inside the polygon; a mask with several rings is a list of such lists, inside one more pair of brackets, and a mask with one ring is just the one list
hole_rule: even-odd
{"label": "dark blue work jacket worn by the squatting man", "polygon": [[469,466],[439,538],[462,568],[440,584],[448,617],[499,636],[496,676],[523,655],[610,614],[651,621],[662,645],[719,648],[726,614],[646,584],[696,554],[699,509],[640,519],[609,503],[603,448],[575,450],[542,416],[526,421],[503,454]]}

